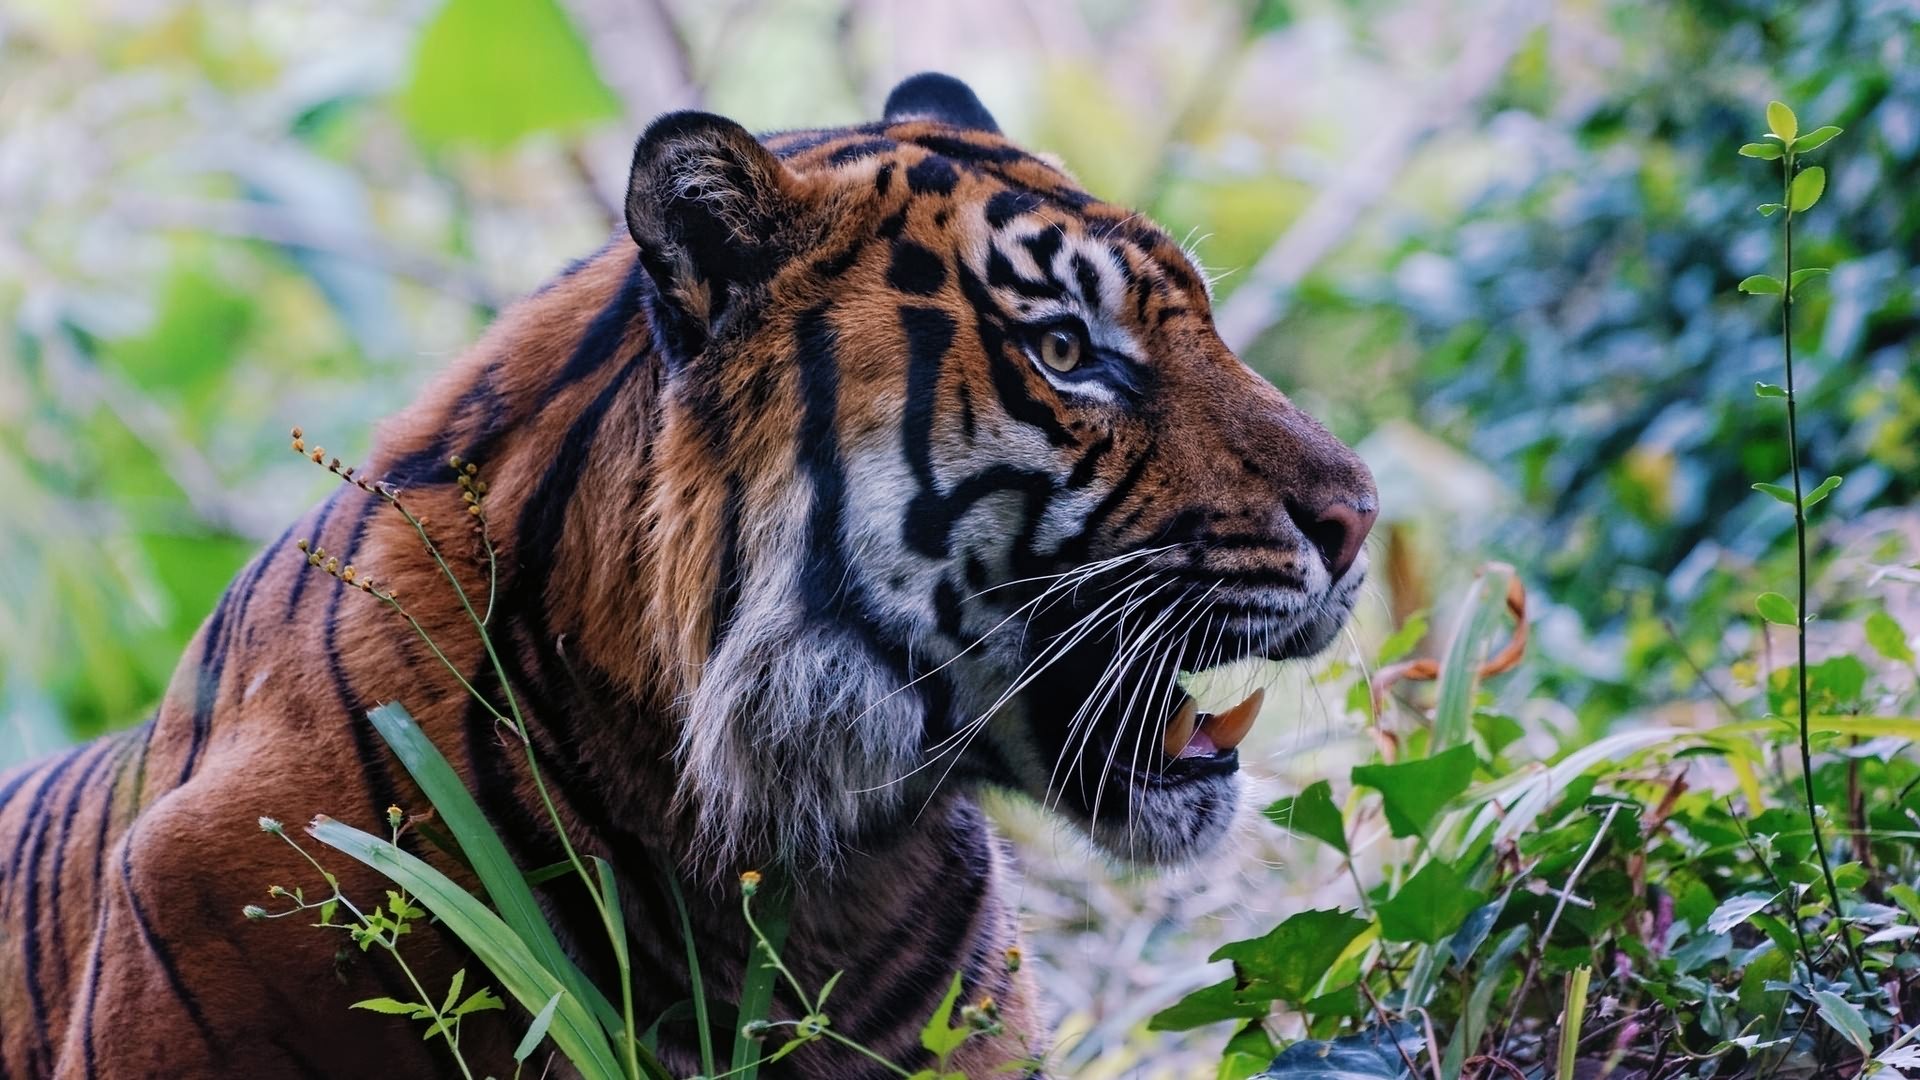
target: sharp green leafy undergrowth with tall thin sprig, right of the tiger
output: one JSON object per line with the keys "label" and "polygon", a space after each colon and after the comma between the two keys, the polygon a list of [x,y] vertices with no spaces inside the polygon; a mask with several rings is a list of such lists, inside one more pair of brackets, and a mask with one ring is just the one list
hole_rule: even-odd
{"label": "sharp green leafy undergrowth with tall thin sprig, right of the tiger", "polygon": [[[1801,131],[1782,102],[1766,125],[1740,156],[1780,167],[1780,202],[1757,211],[1778,215],[1782,273],[1740,290],[1778,298],[1786,379],[1755,396],[1784,411],[1768,423],[1789,482],[1753,488],[1791,511],[1797,596],[1753,601],[1793,638],[1753,698],[1764,713],[1722,698],[1711,726],[1571,732],[1530,753],[1528,728],[1476,686],[1478,615],[1511,575],[1492,567],[1425,723],[1354,767],[1342,801],[1321,780],[1265,811],[1346,863],[1357,907],[1221,945],[1212,959],[1233,974],[1154,1017],[1233,1020],[1223,1080],[1920,1070],[1920,765],[1901,757],[1920,740],[1912,636],[1870,609],[1847,636],[1859,650],[1809,657],[1809,511],[1841,477],[1803,482],[1793,309],[1828,269],[1795,263],[1793,225],[1826,188],[1807,156],[1841,129]],[[1379,688],[1361,686],[1371,703]],[[1357,838],[1382,824],[1382,880],[1365,886]],[[1306,1038],[1275,1036],[1277,1007]]]}

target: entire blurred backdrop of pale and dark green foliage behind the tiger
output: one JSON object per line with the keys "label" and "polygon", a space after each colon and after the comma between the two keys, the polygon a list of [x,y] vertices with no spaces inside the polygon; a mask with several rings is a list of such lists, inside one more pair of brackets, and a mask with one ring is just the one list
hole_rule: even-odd
{"label": "entire blurred backdrop of pale and dark green foliage behind the tiger", "polygon": [[[1805,234],[1836,267],[1803,319],[1809,467],[1847,477],[1847,515],[1914,496],[1910,6],[643,8],[6,15],[0,711],[25,749],[138,719],[225,580],[317,492],[280,432],[363,448],[499,304],[614,227],[649,115],[858,119],[924,65],[1162,219],[1221,304],[1275,292],[1244,354],[1336,432],[1413,421],[1486,461],[1519,507],[1475,528],[1407,511],[1453,552],[1423,573],[1484,546],[1544,580],[1588,630],[1540,676],[1596,726],[1686,694],[1680,644],[1740,651],[1724,603],[1780,550],[1747,484],[1780,479],[1782,432],[1738,392],[1772,327],[1728,290],[1772,256],[1749,211],[1776,192],[1728,154],[1757,86],[1857,136]],[[1436,88],[1475,63],[1488,88],[1446,111]],[[1394,138],[1325,254],[1279,286],[1248,269],[1367,186],[1344,169]]]}

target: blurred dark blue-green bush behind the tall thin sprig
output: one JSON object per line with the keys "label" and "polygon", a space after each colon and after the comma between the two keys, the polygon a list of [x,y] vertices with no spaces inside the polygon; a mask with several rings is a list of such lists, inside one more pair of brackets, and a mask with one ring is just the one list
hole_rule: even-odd
{"label": "blurred dark blue-green bush behind the tall thin sprig", "polygon": [[[1784,482],[1786,432],[1736,392],[1778,382],[1778,327],[1734,296],[1776,248],[1753,208],[1778,194],[1736,156],[1755,85],[1784,83],[1851,142],[1797,240],[1836,267],[1805,300],[1807,459],[1847,475],[1843,513],[1920,494],[1920,211],[1905,198],[1920,188],[1920,17],[1715,0],[1613,4],[1609,19],[1619,81],[1559,85],[1553,40],[1534,38],[1486,106],[1494,179],[1334,294],[1409,319],[1417,415],[1528,505],[1498,553],[1620,628],[1615,651],[1659,653],[1628,657],[1624,680],[1682,669],[1657,619],[1705,648],[1720,571],[1764,561],[1789,530],[1745,500]],[[1596,675],[1569,673],[1569,690],[1599,694],[1578,686]]]}

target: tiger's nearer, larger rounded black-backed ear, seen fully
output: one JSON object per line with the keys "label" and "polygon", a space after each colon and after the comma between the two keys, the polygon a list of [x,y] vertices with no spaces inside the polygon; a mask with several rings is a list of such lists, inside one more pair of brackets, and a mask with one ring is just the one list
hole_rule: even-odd
{"label": "tiger's nearer, larger rounded black-backed ear, seen fully", "polygon": [[739,290],[766,282],[793,221],[787,169],[741,125],[701,111],[653,121],[634,146],[626,229],[659,296],[655,331],[680,359],[707,348]]}

